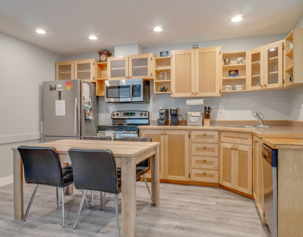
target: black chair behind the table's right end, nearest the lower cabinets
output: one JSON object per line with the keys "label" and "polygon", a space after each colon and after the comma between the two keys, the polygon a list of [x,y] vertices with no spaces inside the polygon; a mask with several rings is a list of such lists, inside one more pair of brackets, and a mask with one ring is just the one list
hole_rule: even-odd
{"label": "black chair behind the table's right end, nearest the lower cabinets", "polygon": [[[151,142],[151,137],[122,137],[121,141],[127,141],[127,142]],[[145,174],[150,170],[151,168],[151,158],[148,157],[147,159],[141,161],[139,164],[136,164],[136,179],[138,179],[140,176],[143,176],[144,182],[146,184],[149,196],[152,199],[152,193],[149,189],[149,186],[147,184]],[[118,175],[121,176],[121,168],[117,169]]]}

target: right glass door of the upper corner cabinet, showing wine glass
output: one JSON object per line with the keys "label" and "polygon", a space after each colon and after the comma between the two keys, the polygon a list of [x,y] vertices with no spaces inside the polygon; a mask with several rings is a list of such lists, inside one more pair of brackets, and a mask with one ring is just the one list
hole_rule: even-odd
{"label": "right glass door of the upper corner cabinet, showing wine glass", "polygon": [[264,46],[264,89],[283,86],[283,42]]}

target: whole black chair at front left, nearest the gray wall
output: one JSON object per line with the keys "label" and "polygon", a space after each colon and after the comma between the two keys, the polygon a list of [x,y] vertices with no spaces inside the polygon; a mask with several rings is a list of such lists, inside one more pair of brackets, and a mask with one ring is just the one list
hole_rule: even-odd
{"label": "whole black chair at front left, nearest the gray wall", "polygon": [[64,189],[74,182],[73,172],[62,170],[58,153],[54,147],[19,146],[18,151],[23,162],[25,181],[28,184],[36,184],[23,221],[28,215],[38,185],[49,185],[61,188],[62,227],[64,227]]}

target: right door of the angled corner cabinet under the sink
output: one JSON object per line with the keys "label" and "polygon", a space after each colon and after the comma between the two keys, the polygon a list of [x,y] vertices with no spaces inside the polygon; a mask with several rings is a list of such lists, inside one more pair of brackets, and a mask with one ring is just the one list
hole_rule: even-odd
{"label": "right door of the angled corner cabinet under the sink", "polygon": [[252,147],[236,145],[235,153],[237,190],[252,195]]}

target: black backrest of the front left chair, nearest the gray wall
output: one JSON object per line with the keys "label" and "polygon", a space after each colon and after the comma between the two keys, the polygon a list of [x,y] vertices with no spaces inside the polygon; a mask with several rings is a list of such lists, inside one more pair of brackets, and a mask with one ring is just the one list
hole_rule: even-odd
{"label": "black backrest of the front left chair, nearest the gray wall", "polygon": [[63,187],[62,168],[54,147],[19,146],[25,181]]}

